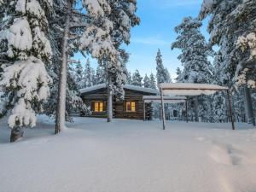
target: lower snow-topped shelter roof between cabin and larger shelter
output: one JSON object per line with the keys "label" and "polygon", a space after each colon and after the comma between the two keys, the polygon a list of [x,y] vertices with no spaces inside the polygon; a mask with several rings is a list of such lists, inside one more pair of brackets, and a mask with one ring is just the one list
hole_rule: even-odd
{"label": "lower snow-topped shelter roof between cabin and larger shelter", "polygon": [[[163,96],[165,103],[179,103],[179,102],[186,102],[185,96]],[[160,96],[143,96],[144,102],[161,102]]]}

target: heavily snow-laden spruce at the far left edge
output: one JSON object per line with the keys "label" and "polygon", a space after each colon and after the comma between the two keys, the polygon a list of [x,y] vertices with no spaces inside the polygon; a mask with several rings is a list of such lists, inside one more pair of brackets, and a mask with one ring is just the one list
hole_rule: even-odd
{"label": "heavily snow-laden spruce at the far left edge", "polygon": [[45,64],[52,52],[46,37],[49,13],[44,10],[50,11],[51,6],[47,0],[15,0],[4,9],[7,17],[0,28],[0,84],[12,109],[8,121],[11,142],[22,137],[22,127],[36,125],[36,113],[49,96],[51,79]]}

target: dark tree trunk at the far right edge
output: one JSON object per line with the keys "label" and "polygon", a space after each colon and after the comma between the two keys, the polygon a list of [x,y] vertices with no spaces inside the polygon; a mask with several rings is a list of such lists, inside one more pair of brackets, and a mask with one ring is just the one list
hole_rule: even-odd
{"label": "dark tree trunk at the far right edge", "polygon": [[244,87],[244,97],[245,97],[244,104],[246,109],[247,123],[255,125],[251,91],[247,86]]}

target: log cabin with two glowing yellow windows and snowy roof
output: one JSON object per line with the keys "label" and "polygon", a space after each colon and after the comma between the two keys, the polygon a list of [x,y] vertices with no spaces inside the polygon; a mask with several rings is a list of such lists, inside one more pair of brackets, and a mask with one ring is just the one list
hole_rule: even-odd
{"label": "log cabin with two glowing yellow windows and snowy roof", "polygon": [[[143,119],[143,96],[156,96],[158,90],[138,87],[130,84],[124,85],[125,99],[113,99],[113,118]],[[90,107],[90,117],[107,118],[108,89],[106,84],[97,84],[80,90],[80,96],[86,106]],[[153,106],[145,103],[146,119],[153,118]],[[84,115],[86,116],[86,115]]]}

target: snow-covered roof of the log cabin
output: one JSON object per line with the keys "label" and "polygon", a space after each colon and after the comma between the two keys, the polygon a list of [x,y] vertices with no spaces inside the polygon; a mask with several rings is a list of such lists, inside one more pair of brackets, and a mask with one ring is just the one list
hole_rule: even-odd
{"label": "snow-covered roof of the log cabin", "polygon": [[[87,88],[81,89],[79,91],[80,91],[80,93],[87,93],[87,92],[90,92],[90,91],[93,91],[93,90],[100,90],[102,88],[107,88],[107,84],[96,84],[94,86],[87,87]],[[126,89],[126,90],[137,90],[137,91],[142,91],[142,92],[146,92],[146,93],[158,94],[158,90],[154,90],[154,89],[150,89],[150,88],[144,88],[144,87],[138,87],[138,86],[131,85],[131,84],[125,84],[124,89]]]}

